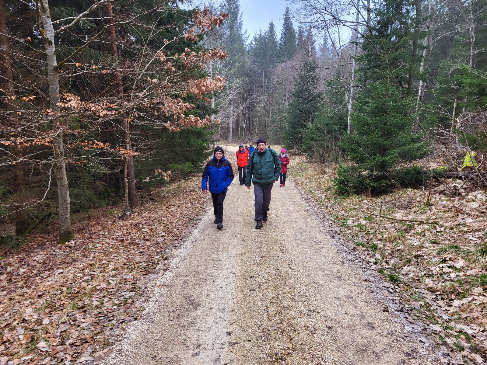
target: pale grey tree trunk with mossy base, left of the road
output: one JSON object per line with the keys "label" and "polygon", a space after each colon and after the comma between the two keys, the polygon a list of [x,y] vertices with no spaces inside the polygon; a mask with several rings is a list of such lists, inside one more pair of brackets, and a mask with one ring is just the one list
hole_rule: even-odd
{"label": "pale grey tree trunk with mossy base, left of the road", "polygon": [[[59,113],[59,74],[57,71],[56,45],[54,43],[54,27],[49,11],[48,0],[39,0],[38,11],[42,24],[42,37],[44,50],[46,52],[47,83],[49,87],[50,108],[54,113]],[[59,114],[58,114],[59,115]],[[60,118],[55,123],[61,123]],[[57,126],[53,126],[56,128]],[[58,221],[59,221],[59,242],[70,241],[75,237],[71,228],[68,178],[66,175],[66,163],[64,161],[64,141],[62,130],[53,136],[54,145],[54,174],[57,183],[58,197]]]}

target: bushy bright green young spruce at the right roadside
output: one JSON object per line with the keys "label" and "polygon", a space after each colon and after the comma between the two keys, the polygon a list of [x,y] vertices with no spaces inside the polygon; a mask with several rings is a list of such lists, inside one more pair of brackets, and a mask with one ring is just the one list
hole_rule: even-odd
{"label": "bushy bright green young spruce at the right roadside", "polygon": [[425,175],[419,167],[398,168],[428,151],[423,136],[412,133],[414,105],[415,99],[405,97],[400,86],[383,80],[366,85],[357,95],[354,133],[347,134],[342,143],[355,164],[339,166],[338,192],[378,195],[398,185],[412,187],[423,182]]}

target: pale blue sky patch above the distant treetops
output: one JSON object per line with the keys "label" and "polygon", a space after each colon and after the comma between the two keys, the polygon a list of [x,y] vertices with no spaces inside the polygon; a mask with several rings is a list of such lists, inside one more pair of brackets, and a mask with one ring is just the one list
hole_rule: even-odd
{"label": "pale blue sky patch above the distant treetops", "polygon": [[273,20],[279,38],[285,9],[286,0],[240,0],[240,11],[243,12],[247,35],[252,37],[255,30],[266,29],[269,21]]}

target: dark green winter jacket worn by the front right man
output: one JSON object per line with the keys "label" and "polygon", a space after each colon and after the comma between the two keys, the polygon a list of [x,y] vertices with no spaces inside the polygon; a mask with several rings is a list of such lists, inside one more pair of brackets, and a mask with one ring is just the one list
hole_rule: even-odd
{"label": "dark green winter jacket worn by the front right man", "polygon": [[245,186],[250,186],[250,182],[263,187],[270,186],[279,179],[280,172],[281,160],[276,151],[265,148],[261,153],[256,149],[248,158]]}

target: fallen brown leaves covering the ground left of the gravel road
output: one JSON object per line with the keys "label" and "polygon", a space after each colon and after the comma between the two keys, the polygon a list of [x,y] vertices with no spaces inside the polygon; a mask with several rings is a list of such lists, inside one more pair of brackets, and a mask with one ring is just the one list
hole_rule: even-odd
{"label": "fallen brown leaves covering the ground left of the gravel road", "polygon": [[41,235],[4,253],[0,365],[80,364],[111,346],[198,222],[207,201],[198,180],[155,188],[126,219],[119,209],[92,211],[68,243]]}

